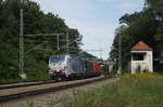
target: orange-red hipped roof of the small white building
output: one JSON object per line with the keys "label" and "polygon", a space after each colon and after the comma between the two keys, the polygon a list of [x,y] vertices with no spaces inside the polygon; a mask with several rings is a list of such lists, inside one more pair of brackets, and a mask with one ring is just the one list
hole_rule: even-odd
{"label": "orange-red hipped roof of the small white building", "polygon": [[131,48],[131,51],[152,51],[152,48],[150,48],[143,41],[139,41],[136,45]]}

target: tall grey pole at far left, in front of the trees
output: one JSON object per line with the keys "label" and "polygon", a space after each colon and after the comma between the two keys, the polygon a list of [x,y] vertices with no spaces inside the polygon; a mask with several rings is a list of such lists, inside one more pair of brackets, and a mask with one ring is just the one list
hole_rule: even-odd
{"label": "tall grey pole at far left, in front of the trees", "polygon": [[[23,0],[21,0],[21,4],[23,5]],[[22,79],[26,79],[26,75],[24,72],[24,24],[23,24],[23,8],[20,11],[21,13],[21,24],[20,24],[20,76]]]}

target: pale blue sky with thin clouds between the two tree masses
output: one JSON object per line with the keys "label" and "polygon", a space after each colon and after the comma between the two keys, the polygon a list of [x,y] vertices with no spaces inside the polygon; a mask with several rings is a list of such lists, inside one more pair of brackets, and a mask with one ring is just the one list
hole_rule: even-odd
{"label": "pale blue sky with thin clouds between the two tree masses", "polygon": [[[106,59],[113,43],[118,18],[141,11],[143,0],[33,0],[48,13],[59,14],[70,28],[83,35],[83,50]],[[91,52],[89,50],[103,50]]]}

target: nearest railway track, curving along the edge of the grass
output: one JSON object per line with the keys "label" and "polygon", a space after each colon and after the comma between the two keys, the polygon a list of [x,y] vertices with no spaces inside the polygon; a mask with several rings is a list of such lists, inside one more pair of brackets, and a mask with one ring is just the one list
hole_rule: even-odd
{"label": "nearest railway track, curving along the edge of the grass", "polygon": [[[75,88],[75,86],[90,84],[90,83],[93,83],[97,81],[102,81],[105,79],[108,79],[108,78],[98,77],[98,78],[92,78],[92,79],[71,81],[68,83],[63,82],[63,83],[59,83],[58,85],[52,85],[52,86],[42,88],[42,89],[40,88],[40,89],[36,89],[36,90],[27,90],[24,92],[21,92],[21,91],[18,92],[18,90],[17,90],[18,93],[7,93],[7,94],[2,94],[2,95],[0,94],[0,103],[18,99],[18,98],[23,98],[23,97],[27,97],[27,96],[38,95],[38,94],[45,94],[45,93],[49,93],[49,92],[58,92],[58,91],[62,91],[62,90],[66,90],[66,89]],[[22,89],[22,88],[20,86],[20,89]],[[32,86],[32,89],[33,89],[33,86]],[[10,90],[12,91],[12,89],[10,89]],[[2,91],[8,91],[8,90],[2,90]],[[0,91],[0,93],[1,93],[1,91]]]}

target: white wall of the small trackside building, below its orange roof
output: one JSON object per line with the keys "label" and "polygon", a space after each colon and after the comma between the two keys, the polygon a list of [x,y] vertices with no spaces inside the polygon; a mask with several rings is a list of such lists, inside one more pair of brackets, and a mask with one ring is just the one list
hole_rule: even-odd
{"label": "white wall of the small trackside building, below its orange roof", "polygon": [[131,53],[146,53],[143,61],[133,61],[131,55],[131,73],[136,73],[136,69],[140,65],[141,70],[148,69],[150,72],[153,72],[153,52],[152,51],[131,51]]}

